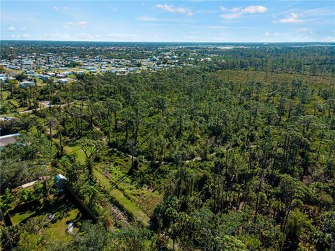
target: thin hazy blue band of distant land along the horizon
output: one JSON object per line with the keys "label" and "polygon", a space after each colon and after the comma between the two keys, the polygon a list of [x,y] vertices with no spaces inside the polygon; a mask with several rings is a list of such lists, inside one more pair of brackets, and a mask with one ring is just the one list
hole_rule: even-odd
{"label": "thin hazy blue band of distant land along the horizon", "polygon": [[285,41],[285,42],[218,42],[218,41],[85,41],[85,40],[15,40],[15,39],[0,39],[0,42],[2,41],[15,41],[15,42],[77,42],[77,43],[214,43],[214,44],[220,44],[220,43],[325,43],[325,44],[335,44],[334,41]]}

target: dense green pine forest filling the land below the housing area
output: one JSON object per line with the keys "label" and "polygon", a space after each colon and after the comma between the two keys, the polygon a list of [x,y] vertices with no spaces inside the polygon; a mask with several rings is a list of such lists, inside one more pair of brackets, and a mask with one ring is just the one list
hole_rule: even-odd
{"label": "dense green pine forest filling the land below the housing area", "polygon": [[[1,246],[334,250],[334,47],[215,53],[195,67],[2,84],[32,112],[1,121],[2,135],[20,132],[0,152],[1,211],[38,209],[3,227]],[[55,174],[98,217],[63,239],[38,215],[68,204]]]}

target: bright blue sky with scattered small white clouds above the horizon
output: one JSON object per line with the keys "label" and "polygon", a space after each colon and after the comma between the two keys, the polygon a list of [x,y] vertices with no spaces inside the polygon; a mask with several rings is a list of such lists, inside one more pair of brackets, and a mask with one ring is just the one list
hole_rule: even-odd
{"label": "bright blue sky with scattered small white clouds above the horizon", "polygon": [[1,0],[1,40],[335,41],[335,1]]}

